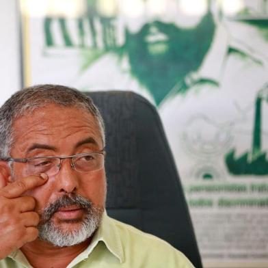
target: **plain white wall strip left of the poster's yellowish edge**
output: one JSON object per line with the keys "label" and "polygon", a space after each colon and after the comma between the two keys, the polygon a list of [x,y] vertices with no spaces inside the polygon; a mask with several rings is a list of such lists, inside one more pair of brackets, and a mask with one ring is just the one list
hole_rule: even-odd
{"label": "plain white wall strip left of the poster's yellowish edge", "polygon": [[21,88],[18,1],[0,0],[0,105]]}

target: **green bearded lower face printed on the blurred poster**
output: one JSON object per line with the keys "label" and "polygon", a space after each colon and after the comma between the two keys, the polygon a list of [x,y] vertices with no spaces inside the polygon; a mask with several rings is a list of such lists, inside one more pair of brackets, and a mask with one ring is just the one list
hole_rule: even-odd
{"label": "green bearded lower face printed on the blurred poster", "polygon": [[187,23],[174,4],[159,16],[147,20],[144,16],[138,27],[126,24],[124,50],[132,75],[150,91],[157,105],[189,72],[198,70],[213,39],[215,23],[209,10],[186,17],[198,19]]}

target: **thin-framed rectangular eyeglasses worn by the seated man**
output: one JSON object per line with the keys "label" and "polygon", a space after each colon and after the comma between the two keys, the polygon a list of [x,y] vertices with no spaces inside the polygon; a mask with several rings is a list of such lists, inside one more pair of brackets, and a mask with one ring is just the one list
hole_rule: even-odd
{"label": "thin-framed rectangular eyeglasses worn by the seated man", "polygon": [[33,158],[7,158],[3,161],[26,163],[26,173],[39,175],[46,173],[48,176],[55,176],[62,167],[62,159],[71,159],[70,165],[78,172],[95,172],[104,167],[105,151],[86,152],[69,157],[33,157]]}

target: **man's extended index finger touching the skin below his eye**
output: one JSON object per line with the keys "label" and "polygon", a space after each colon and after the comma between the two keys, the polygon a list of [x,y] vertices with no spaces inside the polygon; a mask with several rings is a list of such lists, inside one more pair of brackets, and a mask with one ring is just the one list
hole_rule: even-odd
{"label": "man's extended index finger touching the skin below his eye", "polygon": [[46,183],[47,179],[48,176],[44,173],[40,174],[40,176],[21,178],[0,189],[0,193],[6,198],[17,198],[25,193],[25,191],[29,191],[43,185]]}

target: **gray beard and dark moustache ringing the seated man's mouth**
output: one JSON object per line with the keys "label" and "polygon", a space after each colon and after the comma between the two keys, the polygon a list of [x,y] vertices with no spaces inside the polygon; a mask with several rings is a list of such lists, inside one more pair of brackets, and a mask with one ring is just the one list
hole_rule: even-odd
{"label": "gray beard and dark moustache ringing the seated man's mouth", "polygon": [[[77,205],[85,209],[86,216],[81,221],[81,226],[75,230],[62,230],[56,226],[51,219],[54,213],[61,207]],[[92,202],[79,195],[65,195],[50,204],[41,213],[40,224],[38,225],[38,237],[57,247],[68,247],[82,243],[93,235],[95,230],[100,226],[103,217],[103,207],[94,206]]]}

